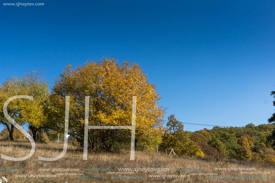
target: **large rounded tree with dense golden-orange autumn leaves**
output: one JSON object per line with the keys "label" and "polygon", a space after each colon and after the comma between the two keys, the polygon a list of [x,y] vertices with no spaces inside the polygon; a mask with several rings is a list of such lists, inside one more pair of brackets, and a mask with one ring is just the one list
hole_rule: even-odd
{"label": "large rounded tree with dense golden-orange autumn leaves", "polygon": [[[69,134],[81,146],[84,139],[85,96],[90,96],[89,125],[130,126],[132,98],[137,96],[136,138],[161,130],[164,108],[159,106],[156,86],[148,81],[138,64],[103,57],[87,61],[84,66],[67,65],[56,78],[48,117],[53,130],[64,133],[65,96],[70,96]],[[88,130],[88,149],[111,151],[118,136],[130,137],[125,129]]]}

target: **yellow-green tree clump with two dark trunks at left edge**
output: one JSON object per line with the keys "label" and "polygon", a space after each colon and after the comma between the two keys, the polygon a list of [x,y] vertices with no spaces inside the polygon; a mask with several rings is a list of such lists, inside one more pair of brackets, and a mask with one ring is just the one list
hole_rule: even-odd
{"label": "yellow-green tree clump with two dark trunks at left edge", "polygon": [[[20,78],[10,77],[1,85],[0,105],[3,108],[4,102],[12,96],[27,95],[33,100],[14,99],[7,106],[7,113],[19,125],[28,123],[32,131],[33,139],[36,141],[37,131],[46,123],[43,108],[49,96],[48,83],[43,73],[38,70],[25,72]],[[13,140],[14,126],[0,113],[0,122],[7,126],[10,140]]]}

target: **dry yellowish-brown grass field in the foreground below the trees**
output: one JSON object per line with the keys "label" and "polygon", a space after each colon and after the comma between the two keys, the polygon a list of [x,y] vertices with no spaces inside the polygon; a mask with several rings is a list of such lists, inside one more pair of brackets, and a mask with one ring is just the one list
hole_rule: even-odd
{"label": "dry yellowish-brown grass field in the foreground below the trees", "polygon": [[[76,149],[71,144],[68,145],[67,152],[63,158],[57,161],[40,161],[37,156],[42,157],[55,157],[58,156],[63,149],[63,142],[59,144],[55,143],[36,143],[36,149],[31,158],[24,161],[8,161],[1,160],[0,163],[0,176],[5,176],[8,182],[61,182],[61,183],[74,183],[74,182],[207,182],[207,183],[219,183],[219,182],[275,182],[274,167],[265,166],[262,164],[254,164],[245,161],[233,161],[233,160],[211,160],[192,157],[177,157],[167,156],[165,153],[149,153],[149,152],[135,152],[135,160],[130,161],[130,145],[129,152],[125,151],[119,154],[94,154],[88,153],[88,160],[83,160],[83,151]],[[29,141],[14,141],[7,140],[0,141],[0,152],[3,155],[10,157],[23,157],[30,152],[31,144]],[[131,172],[131,171],[119,171],[118,168],[169,168],[169,171],[138,171],[133,174],[119,174],[118,172]],[[255,168],[253,172],[270,172],[269,174],[241,174],[241,170],[215,170],[219,167],[245,167]],[[57,171],[58,169],[79,169],[79,171]],[[85,169],[112,169],[112,170],[85,170]],[[6,170],[3,170],[6,169]],[[7,170],[8,169],[8,170]],[[13,170],[10,170],[13,169]],[[25,169],[25,170],[15,170]],[[49,169],[50,171],[39,171],[39,169]],[[203,169],[201,172],[188,172],[188,171],[173,171],[173,169]],[[54,172],[52,171],[54,170]],[[251,171],[251,170],[245,170]],[[109,174],[107,172],[114,172]],[[76,175],[57,175],[58,173],[75,173]],[[106,176],[106,177],[79,177],[80,176]],[[234,177],[207,177],[205,175],[191,175],[192,173],[217,173],[219,176],[234,176]],[[183,177],[162,178],[162,177],[150,177],[151,175],[174,175]],[[16,177],[16,175],[25,175],[27,177]],[[28,176],[31,176],[28,178]],[[34,175],[55,175],[56,177],[34,177]],[[184,175],[190,175],[185,177]],[[142,178],[112,178],[111,176],[142,176]],[[245,176],[245,178],[237,178],[237,176]],[[247,179],[246,176],[267,176],[268,178],[255,178]]]}

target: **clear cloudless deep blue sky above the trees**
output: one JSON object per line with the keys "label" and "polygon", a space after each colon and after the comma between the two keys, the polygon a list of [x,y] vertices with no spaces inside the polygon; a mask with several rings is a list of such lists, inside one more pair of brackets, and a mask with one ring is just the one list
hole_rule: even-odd
{"label": "clear cloudless deep blue sky above the trees", "polygon": [[40,68],[52,86],[68,63],[110,55],[157,84],[166,120],[245,126],[274,113],[275,1],[26,2],[44,6],[0,4],[0,82]]}

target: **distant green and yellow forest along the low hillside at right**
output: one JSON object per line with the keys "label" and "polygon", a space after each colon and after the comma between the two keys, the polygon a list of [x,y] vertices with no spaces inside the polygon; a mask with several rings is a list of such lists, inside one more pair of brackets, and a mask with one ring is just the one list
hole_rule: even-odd
{"label": "distant green and yellow forest along the low hillside at right", "polygon": [[[183,131],[183,125],[175,118],[169,121],[169,129],[161,142],[164,151],[173,148],[181,155],[235,158],[275,165],[275,123],[258,126],[250,123],[245,127],[230,128],[215,126],[211,130],[204,128],[190,132]],[[180,128],[174,132],[171,124]]]}

